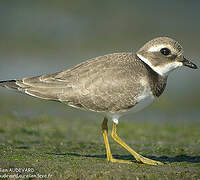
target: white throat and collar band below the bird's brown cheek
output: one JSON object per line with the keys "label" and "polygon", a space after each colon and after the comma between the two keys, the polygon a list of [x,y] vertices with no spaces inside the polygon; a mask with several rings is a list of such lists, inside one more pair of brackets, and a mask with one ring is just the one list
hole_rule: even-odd
{"label": "white throat and collar band below the bird's brown cheek", "polygon": [[137,56],[161,76],[168,76],[171,71],[183,65],[181,62],[175,61],[161,66],[153,66],[147,58],[140,54],[137,54]]}

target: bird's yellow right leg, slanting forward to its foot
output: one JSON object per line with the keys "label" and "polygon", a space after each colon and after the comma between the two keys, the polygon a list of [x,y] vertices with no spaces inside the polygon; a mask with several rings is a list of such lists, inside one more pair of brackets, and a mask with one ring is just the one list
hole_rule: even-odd
{"label": "bird's yellow right leg, slanting forward to its foot", "polygon": [[136,153],[132,148],[130,148],[124,141],[122,141],[121,138],[117,134],[116,123],[113,123],[111,136],[117,143],[119,143],[123,148],[125,148],[128,152],[130,152],[138,162],[149,164],[149,165],[163,165],[162,162],[155,161],[155,160],[148,159],[146,157],[141,156],[140,154]]}

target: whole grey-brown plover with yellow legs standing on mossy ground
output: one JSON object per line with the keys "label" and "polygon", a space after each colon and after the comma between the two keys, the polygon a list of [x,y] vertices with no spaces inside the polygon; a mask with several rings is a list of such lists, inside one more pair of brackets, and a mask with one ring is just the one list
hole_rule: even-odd
{"label": "whole grey-brown plover with yellow legs standing on mossy ground", "polygon": [[62,72],[1,81],[0,86],[103,114],[102,134],[108,161],[132,163],[112,156],[107,127],[107,121],[111,119],[112,138],[138,162],[162,165],[162,162],[141,156],[122,141],[117,134],[117,125],[121,116],[137,112],[156,100],[165,89],[169,73],[181,66],[197,69],[194,63],[184,58],[177,41],[159,37],[147,42],[136,53],[99,56]]}

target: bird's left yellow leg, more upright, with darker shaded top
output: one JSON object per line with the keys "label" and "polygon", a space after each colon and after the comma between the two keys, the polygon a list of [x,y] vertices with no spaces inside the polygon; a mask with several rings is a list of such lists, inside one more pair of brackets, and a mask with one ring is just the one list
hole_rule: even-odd
{"label": "bird's left yellow leg, more upright, with darker shaded top", "polygon": [[103,133],[103,138],[104,138],[104,143],[106,146],[106,154],[107,154],[107,160],[110,162],[119,162],[119,163],[132,163],[131,161],[128,160],[122,160],[122,159],[115,159],[112,156],[111,150],[110,150],[110,145],[108,141],[108,126],[107,126],[108,119],[104,118],[103,123],[101,125],[102,128],[102,133]]}

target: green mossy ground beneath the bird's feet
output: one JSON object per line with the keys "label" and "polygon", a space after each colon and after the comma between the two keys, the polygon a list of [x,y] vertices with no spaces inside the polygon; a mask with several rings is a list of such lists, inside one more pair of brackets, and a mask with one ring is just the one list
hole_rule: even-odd
{"label": "green mossy ground beneath the bird's feet", "polygon": [[[121,121],[122,139],[142,155],[166,163],[156,167],[108,163],[97,120],[3,115],[0,122],[1,169],[34,168],[32,174],[51,174],[52,179],[200,178],[199,124]],[[116,158],[134,161],[111,138],[110,143]]]}

